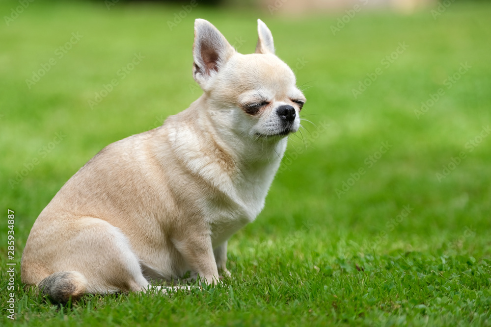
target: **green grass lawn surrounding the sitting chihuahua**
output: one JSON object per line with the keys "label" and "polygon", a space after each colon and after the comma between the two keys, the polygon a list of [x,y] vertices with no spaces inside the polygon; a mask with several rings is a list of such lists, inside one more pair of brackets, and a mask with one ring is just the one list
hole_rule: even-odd
{"label": "green grass lawn surrounding the sitting chihuahua", "polygon": [[[16,5],[2,2],[1,16]],[[259,17],[277,54],[298,64],[302,113],[315,126],[304,123],[303,141],[290,137],[265,210],[231,238],[233,277],[214,289],[86,296],[59,309],[22,291],[17,265],[16,324],[490,326],[491,137],[472,151],[466,144],[491,123],[491,5],[455,2],[436,20],[429,10],[362,10],[335,36],[330,26],[341,15],[201,4],[171,31],[166,22],[179,10],[34,1],[0,24],[1,324],[10,324],[6,263],[20,263],[35,218],[65,181],[109,143],[159,125],[201,94],[191,77],[194,18],[249,53]],[[58,58],[72,32],[83,37]],[[382,64],[403,42],[407,50]],[[134,53],[144,58],[120,79]],[[28,89],[26,79],[51,58],[55,66]],[[461,63],[471,68],[447,88]],[[377,68],[382,75],[355,99],[352,90]],[[118,85],[91,110],[88,101],[113,78]],[[440,88],[418,119],[414,110]],[[51,144],[58,132],[63,139]],[[382,142],[390,148],[377,153]],[[438,180],[460,152],[465,158]],[[353,185],[340,194],[343,182]],[[7,208],[15,211],[14,261]]]}

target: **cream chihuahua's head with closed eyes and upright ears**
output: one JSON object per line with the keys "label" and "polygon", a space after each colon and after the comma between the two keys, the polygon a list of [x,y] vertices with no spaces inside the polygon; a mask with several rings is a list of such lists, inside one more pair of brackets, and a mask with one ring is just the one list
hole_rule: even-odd
{"label": "cream chihuahua's head with closed eyes and upright ears", "polygon": [[261,20],[258,33],[256,52],[244,55],[215,26],[197,19],[192,73],[218,128],[278,139],[299,129],[305,97],[292,70],[274,54],[273,35]]}

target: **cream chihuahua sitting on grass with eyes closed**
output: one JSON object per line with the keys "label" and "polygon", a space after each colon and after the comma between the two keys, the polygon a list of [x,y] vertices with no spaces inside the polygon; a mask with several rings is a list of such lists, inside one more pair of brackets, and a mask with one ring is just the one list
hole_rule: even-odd
{"label": "cream chihuahua sitting on grass with eyes closed", "polygon": [[208,21],[194,25],[193,77],[203,95],[164,125],[110,144],[37,218],[22,281],[55,302],[145,291],[191,271],[229,275],[227,240],[261,212],[305,98],[258,20],[240,54]]}

